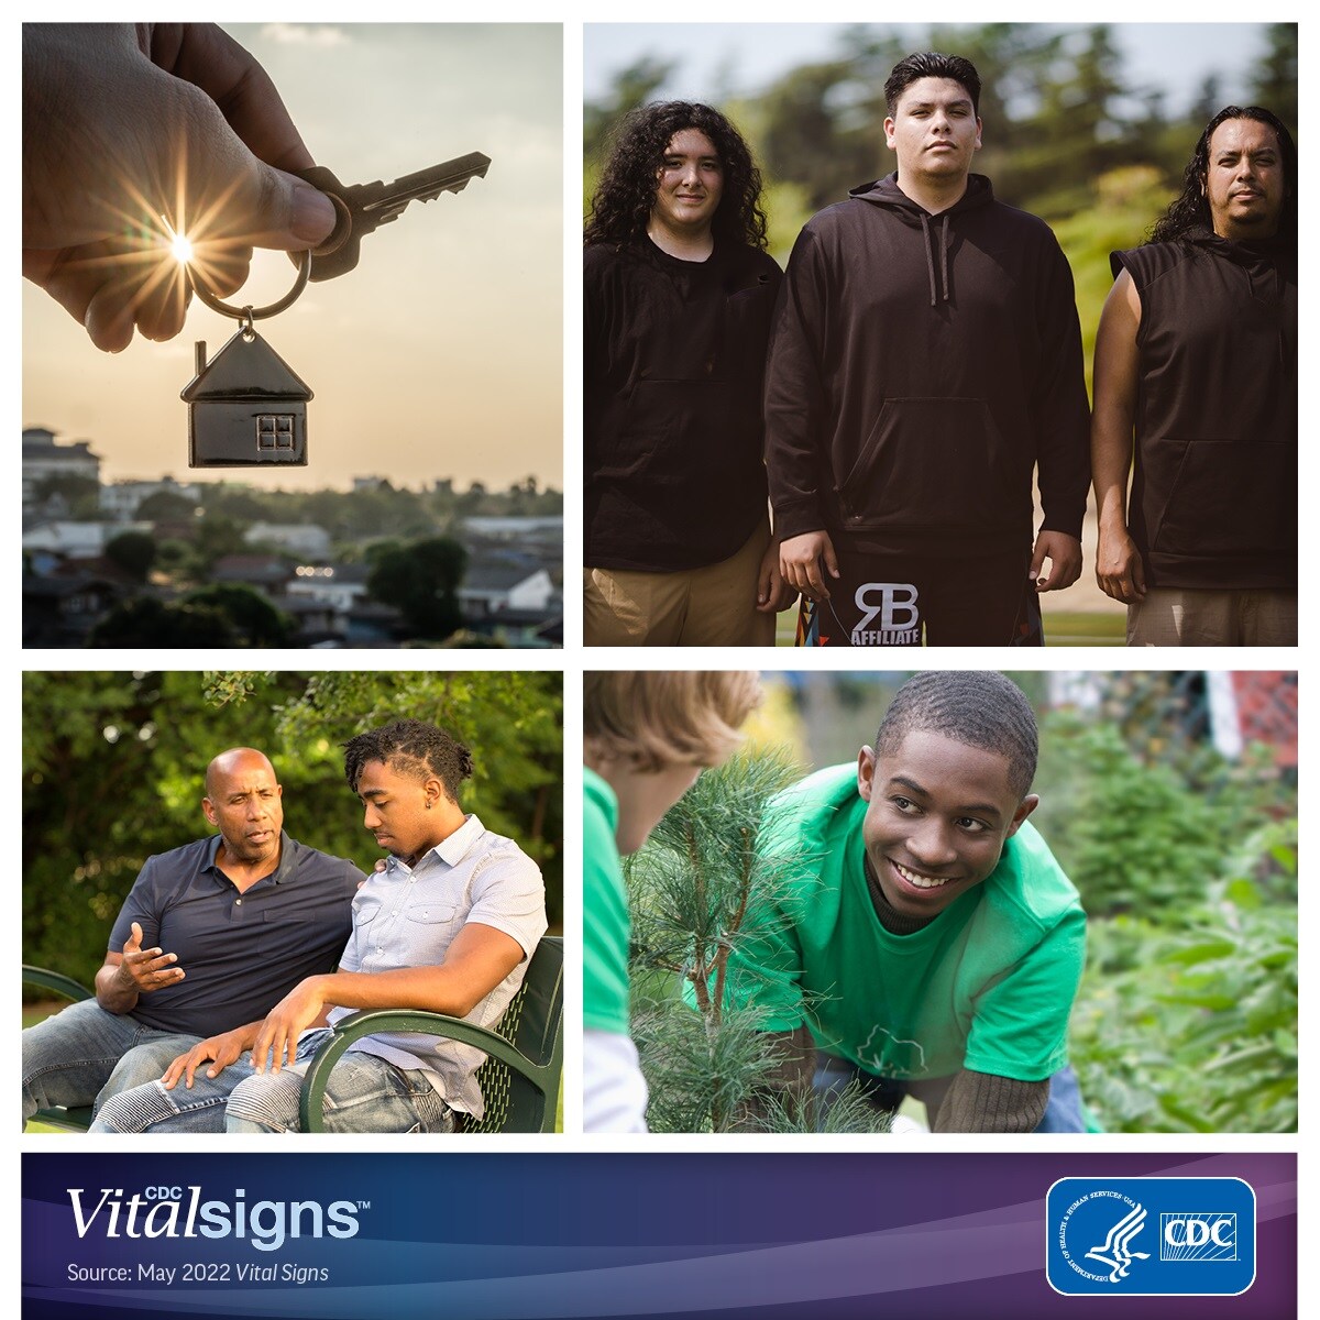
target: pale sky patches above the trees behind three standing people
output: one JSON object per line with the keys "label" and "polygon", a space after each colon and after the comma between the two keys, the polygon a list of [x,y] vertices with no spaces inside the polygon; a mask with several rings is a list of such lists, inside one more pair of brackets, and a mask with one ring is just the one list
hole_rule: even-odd
{"label": "pale sky patches above the trees behind three standing people", "polygon": [[[932,21],[979,22],[965,13],[941,15]],[[583,28],[582,83],[586,99],[607,92],[610,81],[643,55],[672,59],[673,75],[659,88],[663,96],[711,96],[756,92],[795,65],[829,59],[847,29],[840,22],[704,22],[704,24],[587,24]],[[913,40],[929,26],[873,24],[911,33]],[[1245,94],[1245,70],[1265,50],[1265,26],[1250,22],[1118,22],[1111,24],[1131,81],[1139,87],[1160,87],[1170,108],[1181,111],[1201,79],[1222,74],[1225,102]]]}

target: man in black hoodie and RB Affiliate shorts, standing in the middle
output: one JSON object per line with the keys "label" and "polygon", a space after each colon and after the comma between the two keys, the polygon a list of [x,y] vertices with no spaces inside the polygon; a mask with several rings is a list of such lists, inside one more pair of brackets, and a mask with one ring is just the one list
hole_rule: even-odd
{"label": "man in black hoodie and RB Affiliate shorts, standing in the middle", "polygon": [[1044,222],[970,173],[970,61],[908,55],[884,94],[898,170],[807,224],[771,335],[766,461],[799,640],[1039,640],[1035,593],[1081,572],[1072,272]]}

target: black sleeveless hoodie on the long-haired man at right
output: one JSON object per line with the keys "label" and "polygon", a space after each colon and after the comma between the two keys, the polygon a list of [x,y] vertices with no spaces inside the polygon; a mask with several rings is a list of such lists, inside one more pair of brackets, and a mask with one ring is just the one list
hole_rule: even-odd
{"label": "black sleeveless hoodie on the long-haired man at right", "polygon": [[1193,231],[1110,265],[1142,304],[1129,529],[1147,585],[1295,587],[1295,253]]}

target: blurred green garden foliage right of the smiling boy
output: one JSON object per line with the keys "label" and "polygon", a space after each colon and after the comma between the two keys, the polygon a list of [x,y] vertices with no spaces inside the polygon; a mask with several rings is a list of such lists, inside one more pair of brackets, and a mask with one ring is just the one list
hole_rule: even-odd
{"label": "blurred green garden foliage right of the smiling boy", "polygon": [[1266,748],[1049,715],[1036,824],[1088,913],[1071,1051],[1110,1131],[1296,1131],[1296,785]]}

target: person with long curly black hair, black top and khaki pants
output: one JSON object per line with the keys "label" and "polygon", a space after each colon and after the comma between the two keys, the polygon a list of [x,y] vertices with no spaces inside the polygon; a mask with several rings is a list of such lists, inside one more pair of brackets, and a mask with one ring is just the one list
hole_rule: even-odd
{"label": "person with long curly black hair, black top and khaki pants", "polygon": [[583,255],[587,645],[774,645],[760,186],[710,106],[656,102],[615,133]]}

